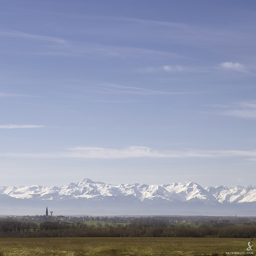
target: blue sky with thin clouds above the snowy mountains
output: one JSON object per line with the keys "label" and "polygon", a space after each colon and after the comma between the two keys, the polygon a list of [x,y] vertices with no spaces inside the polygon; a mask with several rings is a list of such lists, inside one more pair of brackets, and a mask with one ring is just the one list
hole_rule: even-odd
{"label": "blue sky with thin clouds above the snowy mountains", "polygon": [[254,0],[0,0],[0,186],[256,184]]}

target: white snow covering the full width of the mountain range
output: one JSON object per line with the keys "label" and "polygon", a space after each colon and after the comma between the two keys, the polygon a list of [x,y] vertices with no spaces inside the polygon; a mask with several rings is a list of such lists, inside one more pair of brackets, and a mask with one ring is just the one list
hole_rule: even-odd
{"label": "white snow covering the full width of the mountain range", "polygon": [[[256,186],[206,187],[194,182],[162,185],[120,184],[111,185],[83,179],[61,187],[19,186],[0,187],[0,195],[29,200],[63,201],[81,200],[122,200],[144,204],[168,202],[202,202],[203,204],[237,204],[256,202]],[[119,198],[119,199],[118,199]]]}

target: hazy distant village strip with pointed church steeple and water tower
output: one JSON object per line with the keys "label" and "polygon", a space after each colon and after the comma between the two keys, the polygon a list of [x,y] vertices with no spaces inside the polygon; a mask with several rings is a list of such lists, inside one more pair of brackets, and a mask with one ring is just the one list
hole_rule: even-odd
{"label": "hazy distant village strip with pointed church steeple and water tower", "polygon": [[48,207],[46,206],[46,211],[44,215],[24,215],[24,216],[4,216],[0,217],[0,220],[16,220],[23,222],[36,222],[44,223],[46,221],[56,222],[56,223],[84,223],[89,225],[95,225],[102,227],[104,225],[110,226],[133,226],[139,223],[152,225],[152,226],[169,226],[169,225],[188,225],[197,226],[198,224],[214,224],[214,223],[236,223],[243,224],[256,221],[255,217],[237,217],[237,216],[63,216],[63,215],[53,215],[53,211],[48,212]]}

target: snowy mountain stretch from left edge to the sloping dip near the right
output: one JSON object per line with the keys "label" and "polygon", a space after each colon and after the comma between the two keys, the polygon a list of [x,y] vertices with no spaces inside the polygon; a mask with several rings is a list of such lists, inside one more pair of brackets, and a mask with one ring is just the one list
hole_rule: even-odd
{"label": "snowy mountain stretch from left edge to the sloping dip near the right", "polygon": [[196,183],[184,182],[163,185],[111,185],[83,179],[61,187],[19,186],[0,187],[0,193],[14,198],[65,200],[77,198],[132,197],[146,201],[215,202],[215,197]]}

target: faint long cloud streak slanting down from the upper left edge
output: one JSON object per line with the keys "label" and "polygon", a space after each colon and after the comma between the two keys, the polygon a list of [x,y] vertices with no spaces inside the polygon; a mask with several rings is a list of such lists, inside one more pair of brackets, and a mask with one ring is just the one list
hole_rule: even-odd
{"label": "faint long cloud streak slanting down from the upper left edge", "polygon": [[[184,58],[171,52],[161,50],[151,50],[147,48],[113,46],[96,43],[75,42],[59,37],[45,35],[28,34],[19,31],[0,31],[2,37],[17,37],[20,39],[37,40],[48,42],[47,45],[39,44],[40,47],[30,44],[30,48],[19,48],[6,50],[7,53],[39,54],[39,55],[58,55],[58,56],[77,56],[100,55],[106,57],[132,57],[132,58]],[[46,46],[46,47],[45,47]],[[26,46],[27,47],[27,46]],[[19,50],[20,49],[20,50]]]}

